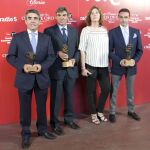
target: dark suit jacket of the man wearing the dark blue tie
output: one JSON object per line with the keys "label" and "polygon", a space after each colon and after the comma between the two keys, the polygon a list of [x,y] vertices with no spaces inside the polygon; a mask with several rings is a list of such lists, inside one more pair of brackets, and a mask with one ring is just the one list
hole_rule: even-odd
{"label": "dark suit jacket of the man wearing the dark blue tie", "polygon": [[[68,55],[69,59],[75,58],[78,63],[80,52],[78,50],[78,34],[76,29],[67,26],[68,29]],[[62,60],[58,57],[58,51],[61,51],[63,48],[63,37],[58,25],[54,25],[52,27],[46,28],[44,33],[49,35],[52,40],[54,52],[56,55],[56,60],[54,64],[50,67],[50,77],[52,79],[63,79],[65,75],[64,68],[62,67]],[[71,67],[67,69],[68,75],[70,78],[78,77],[78,68],[77,65],[75,67]]]}

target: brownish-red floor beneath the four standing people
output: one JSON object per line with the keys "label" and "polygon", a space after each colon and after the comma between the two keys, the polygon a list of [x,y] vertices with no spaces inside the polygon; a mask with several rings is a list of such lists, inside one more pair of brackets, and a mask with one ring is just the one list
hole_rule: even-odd
{"label": "brownish-red floor beneath the four standing people", "polygon": [[[126,109],[119,109],[117,122],[94,125],[88,115],[78,115],[81,129],[63,126],[65,135],[55,140],[37,137],[35,122],[32,123],[29,150],[150,150],[150,103],[136,106],[142,118],[140,122],[127,117]],[[106,112],[108,115],[108,112]],[[0,126],[0,150],[20,150],[19,124]]]}

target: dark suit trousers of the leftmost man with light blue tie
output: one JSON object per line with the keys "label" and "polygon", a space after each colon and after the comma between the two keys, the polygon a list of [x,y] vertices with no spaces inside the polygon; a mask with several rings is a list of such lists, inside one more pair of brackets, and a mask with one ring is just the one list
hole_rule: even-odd
{"label": "dark suit trousers of the leftmost man with light blue tie", "polygon": [[[30,81],[29,81],[30,82]],[[47,130],[46,118],[46,100],[48,89],[40,89],[35,80],[34,87],[31,90],[18,89],[20,100],[20,124],[22,127],[22,136],[30,136],[31,125],[31,100],[32,93],[35,93],[36,111],[37,111],[37,130],[38,133],[44,133]]]}

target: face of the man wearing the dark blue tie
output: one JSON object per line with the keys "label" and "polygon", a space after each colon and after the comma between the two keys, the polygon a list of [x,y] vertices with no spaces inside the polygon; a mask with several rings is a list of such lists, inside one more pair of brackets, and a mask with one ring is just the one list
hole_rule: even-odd
{"label": "face of the man wearing the dark blue tie", "polygon": [[66,11],[58,12],[56,14],[56,20],[57,20],[57,23],[61,26],[67,25],[67,21],[68,21],[67,12]]}

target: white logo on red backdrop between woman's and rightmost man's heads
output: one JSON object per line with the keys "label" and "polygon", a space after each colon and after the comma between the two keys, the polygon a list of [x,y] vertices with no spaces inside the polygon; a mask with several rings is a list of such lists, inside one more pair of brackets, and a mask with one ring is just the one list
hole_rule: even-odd
{"label": "white logo on red backdrop between woman's and rightmost man's heads", "polygon": [[118,14],[117,13],[104,13],[104,20],[107,21],[108,23],[115,23],[115,21],[118,18]]}

